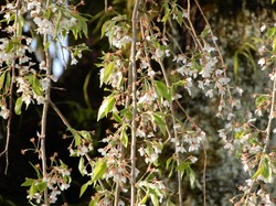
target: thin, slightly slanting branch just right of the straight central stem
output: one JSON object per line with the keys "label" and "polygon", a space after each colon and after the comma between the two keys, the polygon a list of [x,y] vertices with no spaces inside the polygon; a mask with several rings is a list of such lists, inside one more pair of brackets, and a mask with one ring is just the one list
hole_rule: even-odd
{"label": "thin, slightly slanting branch just right of the straight central stem", "polygon": [[[163,74],[163,77],[164,77],[164,82],[166,82],[166,86],[168,88],[171,87],[171,84],[170,84],[170,80],[168,78],[168,75],[166,73],[166,68],[163,66],[163,63],[161,62],[161,59],[158,61],[160,67],[161,67],[161,71],[162,71],[162,74]],[[177,165],[179,166],[180,165],[180,153],[178,152],[177,150],[177,147],[179,145],[179,138],[178,138],[178,132],[177,132],[177,118],[176,118],[176,111],[174,111],[174,107],[173,107],[173,101],[170,102],[170,110],[171,110],[171,119],[172,119],[172,127],[173,127],[173,139],[176,140],[176,154],[177,154]],[[182,202],[182,177],[181,177],[181,171],[178,170],[178,205],[179,206],[182,206],[183,205],[183,202]]]}

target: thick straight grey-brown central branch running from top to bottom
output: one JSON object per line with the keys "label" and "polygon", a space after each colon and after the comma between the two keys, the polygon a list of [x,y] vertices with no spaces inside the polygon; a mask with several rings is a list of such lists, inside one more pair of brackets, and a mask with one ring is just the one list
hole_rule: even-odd
{"label": "thick straight grey-brown central branch running from top to bottom", "polygon": [[137,42],[137,15],[138,15],[138,4],[139,0],[135,1],[135,7],[132,11],[132,43],[131,43],[131,54],[130,54],[130,72],[131,72],[131,90],[132,90],[132,120],[131,120],[131,145],[130,145],[130,162],[131,162],[131,173],[130,173],[130,205],[135,206],[136,203],[136,116],[137,116],[137,68],[136,68],[136,42]]}

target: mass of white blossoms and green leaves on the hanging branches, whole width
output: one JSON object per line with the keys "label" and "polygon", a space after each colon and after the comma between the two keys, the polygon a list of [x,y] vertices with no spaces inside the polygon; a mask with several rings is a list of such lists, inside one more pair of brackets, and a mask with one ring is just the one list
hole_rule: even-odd
{"label": "mass of white blossoms and green leaves on the hanging branches, whole width", "polygon": [[[87,188],[95,189],[88,205],[181,206],[184,205],[185,180],[191,189],[201,188],[202,202],[206,205],[208,144],[212,133],[208,129],[209,120],[197,120],[188,107],[194,98],[200,98],[210,116],[221,122],[217,132],[224,149],[236,153],[247,173],[245,185],[238,187],[241,195],[231,202],[274,205],[270,184],[276,164],[273,141],[275,25],[264,23],[258,39],[248,39],[254,42],[243,42],[234,52],[236,78],[238,57],[247,58],[256,71],[252,52],[258,51],[257,63],[267,72],[267,82],[273,84],[265,94],[255,95],[255,112],[252,113],[241,104],[243,90],[234,85],[231,75],[227,76],[227,65],[217,45],[220,36],[213,34],[198,0],[193,7],[204,24],[201,29],[193,22],[190,0],[185,6],[177,0],[135,0],[131,3],[131,18],[107,4],[105,8],[105,12],[113,15],[105,20],[100,30],[100,37],[108,40],[109,48],[96,64],[100,69],[99,86],[106,91],[97,121],[107,118],[112,126],[99,148],[95,147],[98,144],[95,132],[75,129],[51,101],[51,84],[55,80],[51,45],[61,44],[63,55],[65,50],[70,53],[71,65],[77,64],[82,52],[87,50],[85,44],[65,46],[62,43],[68,34],[75,40],[88,37],[91,17],[77,12],[84,2],[18,0],[2,7],[2,22],[7,26],[1,30],[8,35],[0,39],[0,116],[7,119],[8,129],[1,155],[7,160],[13,111],[20,116],[31,104],[42,105],[41,128],[36,138],[31,139],[33,149],[22,150],[23,153],[33,151],[41,161],[35,165],[30,162],[36,178],[26,177],[22,183],[29,188],[30,204],[55,204],[59,195],[72,184],[71,169],[56,153],[46,154],[46,117],[52,107],[67,128],[64,133],[65,138],[71,138],[70,156],[77,159],[77,169],[87,180],[79,188],[79,197]],[[25,30],[32,35],[24,35]],[[177,41],[180,30],[190,37],[189,45]],[[43,47],[40,54],[36,52],[36,56],[42,56],[40,63],[30,57],[33,43]],[[267,121],[263,122],[264,118]],[[95,151],[96,156],[92,155]],[[195,171],[198,160],[203,162],[201,182]]]}

